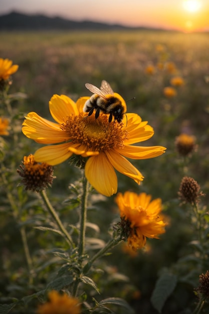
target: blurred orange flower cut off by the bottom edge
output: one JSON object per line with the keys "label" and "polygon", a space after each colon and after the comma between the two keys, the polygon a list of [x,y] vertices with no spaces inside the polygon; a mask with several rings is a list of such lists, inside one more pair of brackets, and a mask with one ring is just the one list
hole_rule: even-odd
{"label": "blurred orange flower cut off by the bottom edge", "polygon": [[49,301],[39,305],[37,314],[80,314],[81,307],[78,299],[60,294],[52,290],[48,294]]}

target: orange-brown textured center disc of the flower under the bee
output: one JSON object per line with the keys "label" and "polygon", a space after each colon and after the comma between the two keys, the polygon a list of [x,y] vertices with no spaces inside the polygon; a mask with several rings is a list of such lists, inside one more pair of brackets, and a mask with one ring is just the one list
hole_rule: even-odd
{"label": "orange-brown textured center disc of the flower under the bee", "polygon": [[128,132],[122,128],[123,123],[117,121],[108,122],[108,116],[100,114],[84,116],[71,115],[62,124],[62,130],[68,132],[73,143],[81,143],[92,151],[107,151],[114,148],[122,148]]}

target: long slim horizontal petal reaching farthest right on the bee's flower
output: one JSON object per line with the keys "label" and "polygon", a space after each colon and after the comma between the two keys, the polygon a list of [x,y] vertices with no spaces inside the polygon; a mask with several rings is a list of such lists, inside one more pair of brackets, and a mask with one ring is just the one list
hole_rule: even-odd
{"label": "long slim horizontal petal reaching farthest right on the bee's flower", "polygon": [[166,148],[163,146],[133,146],[125,145],[122,149],[115,148],[115,150],[131,159],[149,159],[160,156],[164,153]]}

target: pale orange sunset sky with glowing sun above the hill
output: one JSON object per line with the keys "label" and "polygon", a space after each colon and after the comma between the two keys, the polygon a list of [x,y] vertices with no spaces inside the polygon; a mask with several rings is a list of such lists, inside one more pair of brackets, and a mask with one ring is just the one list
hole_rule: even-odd
{"label": "pale orange sunset sky with glowing sun above the hill", "polygon": [[209,31],[209,0],[1,0],[0,15],[14,10],[78,21]]}

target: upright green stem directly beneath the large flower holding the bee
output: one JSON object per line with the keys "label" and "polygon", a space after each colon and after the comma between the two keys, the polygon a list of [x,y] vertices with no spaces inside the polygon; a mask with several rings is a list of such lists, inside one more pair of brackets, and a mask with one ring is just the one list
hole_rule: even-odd
{"label": "upright green stem directly beneath the large flower holding the bee", "polygon": [[81,213],[80,213],[80,238],[79,238],[79,247],[78,247],[79,256],[84,254],[84,247],[85,247],[88,190],[89,190],[89,183],[84,174],[83,195],[81,198]]}

